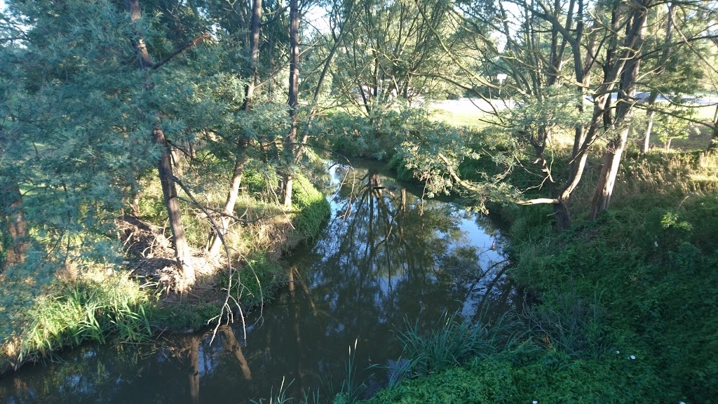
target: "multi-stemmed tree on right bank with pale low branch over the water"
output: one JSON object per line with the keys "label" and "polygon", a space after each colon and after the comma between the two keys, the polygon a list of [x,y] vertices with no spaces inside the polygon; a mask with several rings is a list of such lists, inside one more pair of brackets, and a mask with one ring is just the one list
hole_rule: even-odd
{"label": "multi-stemmed tree on right bank with pale low branch over the water", "polygon": [[[582,177],[589,146],[600,134],[610,93],[628,55],[605,60],[605,79],[599,86],[593,86],[594,114],[591,117],[584,100],[589,95],[592,73],[600,63],[600,52],[612,55],[619,45],[623,45],[623,52],[633,49],[632,40],[609,35],[620,32],[626,17],[619,17],[626,14],[625,10],[613,12],[613,19],[594,19],[594,15],[605,15],[609,6],[599,3],[597,8],[603,9],[596,12],[582,0],[551,4],[542,1],[468,2],[455,6],[454,17],[470,32],[475,49],[484,59],[480,66],[495,70],[500,62],[508,77],[504,88],[513,93],[518,106],[501,112],[490,104],[493,109],[488,112],[498,118],[494,127],[513,134],[510,150],[521,151],[526,147],[531,150],[529,157],[539,169],[541,185],[549,188],[550,198],[519,202],[551,203],[557,226],[565,229],[571,222],[567,201]],[[611,40],[601,41],[601,37]],[[464,81],[467,88],[497,87],[490,78],[467,67],[460,73],[453,80]],[[482,93],[477,92],[477,95],[482,96]],[[552,150],[556,135],[568,131],[574,132],[572,154],[567,165],[556,167],[553,164],[555,151]],[[449,152],[452,151],[444,150],[438,157],[445,165],[454,166],[449,170],[454,180],[482,198],[488,197],[491,190],[487,185],[470,184],[457,178],[455,167],[462,155]],[[500,161],[515,160],[503,158]]]}

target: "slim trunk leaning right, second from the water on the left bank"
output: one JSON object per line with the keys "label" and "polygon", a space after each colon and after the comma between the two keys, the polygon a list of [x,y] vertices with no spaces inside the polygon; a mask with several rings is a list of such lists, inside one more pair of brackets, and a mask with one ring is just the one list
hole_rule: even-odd
{"label": "slim trunk leaning right, second from the water on the left bank", "polygon": [[[243,111],[250,111],[252,109],[252,102],[254,97],[254,90],[256,88],[256,77],[257,77],[257,63],[259,60],[259,33],[261,28],[262,19],[262,0],[254,0],[252,6],[252,19],[251,19],[251,35],[249,37],[249,51],[250,51],[250,78],[245,87],[244,104],[242,105]],[[232,173],[232,179],[230,180],[229,191],[227,193],[227,199],[225,200],[224,214],[233,215],[234,206],[237,202],[237,196],[239,193],[239,185],[242,183],[242,175],[244,173],[244,164],[247,160],[247,145],[246,140],[242,140],[237,143],[238,154],[235,157],[234,170]],[[222,216],[220,218],[220,231],[224,237],[227,234],[227,229],[232,222],[229,216]],[[222,238],[218,234],[213,233],[211,237],[210,246],[207,251],[210,256],[215,257],[222,245]],[[229,257],[227,257],[229,259]]]}

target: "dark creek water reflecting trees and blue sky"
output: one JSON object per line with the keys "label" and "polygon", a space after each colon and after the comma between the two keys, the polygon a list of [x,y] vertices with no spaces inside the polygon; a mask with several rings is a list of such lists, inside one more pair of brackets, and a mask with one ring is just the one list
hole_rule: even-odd
{"label": "dark creek water reflecting trees and blue sky", "polygon": [[[501,313],[513,289],[491,222],[459,206],[421,201],[375,168],[330,168],[333,216],[314,244],[288,259],[294,282],[235,324],[141,346],[85,346],[0,380],[0,403],[248,403],[282,380],[287,395],[340,388],[349,346],[368,392],[386,385],[404,318],[445,311]],[[421,193],[421,189],[416,190]],[[296,400],[294,402],[297,402]]]}

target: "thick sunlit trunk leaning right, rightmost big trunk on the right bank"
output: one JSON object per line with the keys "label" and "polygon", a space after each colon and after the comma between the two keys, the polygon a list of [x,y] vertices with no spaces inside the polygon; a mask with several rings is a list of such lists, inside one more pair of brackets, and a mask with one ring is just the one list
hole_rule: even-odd
{"label": "thick sunlit trunk leaning right, rightmost big trunk on the right bank", "polygon": [[612,139],[606,145],[606,151],[603,155],[603,165],[598,178],[598,184],[591,203],[590,218],[595,220],[597,216],[605,211],[610,205],[613,186],[615,185],[616,176],[620,167],[623,150],[628,140],[630,116],[633,113],[633,105],[635,104],[635,85],[638,80],[640,71],[640,49],[643,45],[643,34],[645,32],[645,22],[648,16],[648,6],[651,0],[643,0],[638,2],[638,9],[633,11],[630,17],[631,21],[626,27],[627,42],[630,46],[625,50],[629,52],[628,60],[625,64],[625,70],[621,75],[620,82],[620,98],[617,102],[615,126],[620,128],[619,136]]}

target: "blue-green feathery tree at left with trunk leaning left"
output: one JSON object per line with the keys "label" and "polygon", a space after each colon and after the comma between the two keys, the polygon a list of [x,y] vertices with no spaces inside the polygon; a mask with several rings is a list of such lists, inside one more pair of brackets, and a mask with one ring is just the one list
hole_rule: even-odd
{"label": "blue-green feathery tree at left with trunk leaning left", "polygon": [[206,132],[207,121],[226,116],[218,92],[208,89],[218,72],[206,67],[216,65],[218,52],[197,50],[206,33],[164,35],[156,19],[141,17],[140,6],[130,0],[9,2],[9,15],[24,28],[22,46],[1,55],[8,78],[2,82],[4,131],[17,136],[6,148],[14,166],[3,161],[0,171],[14,172],[27,190],[23,217],[33,238],[42,240],[38,247],[57,257],[47,262],[65,265],[118,256],[113,221],[141,190],[138,178],[154,166],[182,277],[191,285],[173,162]]}

